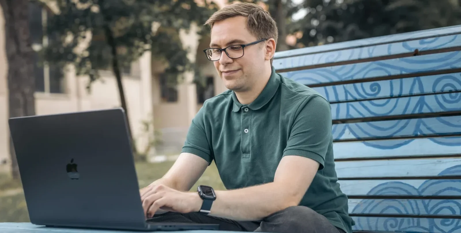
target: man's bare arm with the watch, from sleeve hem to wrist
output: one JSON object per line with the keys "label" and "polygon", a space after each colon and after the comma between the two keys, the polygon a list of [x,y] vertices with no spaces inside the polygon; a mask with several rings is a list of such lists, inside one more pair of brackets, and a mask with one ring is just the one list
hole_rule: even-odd
{"label": "man's bare arm with the watch, from sleeve hem to wrist", "polygon": [[230,191],[216,191],[216,200],[210,215],[236,221],[258,221],[279,210],[296,206],[318,168],[319,163],[309,158],[284,156],[277,167],[273,182]]}

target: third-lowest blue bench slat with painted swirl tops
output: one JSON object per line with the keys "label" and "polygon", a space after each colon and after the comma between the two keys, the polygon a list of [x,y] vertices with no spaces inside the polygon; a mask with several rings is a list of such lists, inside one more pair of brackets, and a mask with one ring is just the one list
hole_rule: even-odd
{"label": "third-lowest blue bench slat with painted swirl tops", "polygon": [[338,183],[341,191],[349,197],[400,196],[422,199],[431,196],[461,199],[461,179],[339,180]]}

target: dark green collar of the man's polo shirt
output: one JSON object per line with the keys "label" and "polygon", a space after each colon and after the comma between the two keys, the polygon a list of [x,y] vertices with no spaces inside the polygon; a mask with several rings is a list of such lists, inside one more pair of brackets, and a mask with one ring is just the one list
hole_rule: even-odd
{"label": "dark green collar of the man's polo shirt", "polygon": [[[256,99],[253,102],[248,104],[248,108],[250,108],[251,110],[258,110],[264,107],[264,105],[266,105],[266,103],[268,103],[275,95],[275,93],[278,90],[278,86],[280,86],[280,75],[278,75],[275,72],[275,68],[274,66],[272,66],[272,73],[271,77],[269,78],[269,81],[267,81],[267,84],[261,91],[260,95],[256,97]],[[238,102],[237,96],[235,95],[234,91],[232,91],[232,100],[234,102],[232,111],[238,112],[238,110],[242,108],[243,104]]]}

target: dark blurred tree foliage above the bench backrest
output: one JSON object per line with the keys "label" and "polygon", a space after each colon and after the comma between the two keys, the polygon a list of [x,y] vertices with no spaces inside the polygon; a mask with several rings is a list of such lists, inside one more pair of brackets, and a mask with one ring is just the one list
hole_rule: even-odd
{"label": "dark blurred tree foliage above the bench backrest", "polygon": [[461,24],[452,0],[310,0],[290,27],[302,46],[344,42]]}

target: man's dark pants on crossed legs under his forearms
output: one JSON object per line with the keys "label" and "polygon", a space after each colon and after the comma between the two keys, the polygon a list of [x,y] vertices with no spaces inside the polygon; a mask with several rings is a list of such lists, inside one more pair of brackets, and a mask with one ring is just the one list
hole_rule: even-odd
{"label": "man's dark pants on crossed legs under his forearms", "polygon": [[267,233],[345,233],[325,216],[305,206],[293,206],[264,218],[263,221],[233,221],[200,213],[166,213],[148,219],[153,222],[219,224],[219,230]]}

